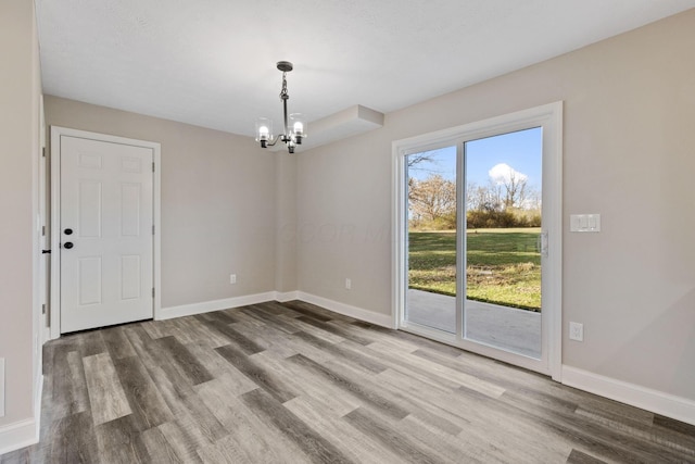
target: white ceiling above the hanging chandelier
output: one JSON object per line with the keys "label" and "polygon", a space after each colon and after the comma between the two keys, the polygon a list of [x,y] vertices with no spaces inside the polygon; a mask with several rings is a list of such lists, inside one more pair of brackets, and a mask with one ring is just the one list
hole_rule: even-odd
{"label": "white ceiling above the hanging chandelier", "polygon": [[[695,0],[36,0],[46,93],[253,135],[257,116],[389,113]],[[311,124],[308,126],[311,138]]]}

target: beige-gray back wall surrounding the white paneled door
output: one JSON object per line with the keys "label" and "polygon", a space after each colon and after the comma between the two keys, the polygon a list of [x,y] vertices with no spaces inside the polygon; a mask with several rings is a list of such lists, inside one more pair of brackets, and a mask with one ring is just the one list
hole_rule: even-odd
{"label": "beige-gray back wall surrounding the white paneled door", "polygon": [[248,137],[73,100],[46,96],[45,106],[49,125],[162,145],[162,308],[275,290],[277,153]]}

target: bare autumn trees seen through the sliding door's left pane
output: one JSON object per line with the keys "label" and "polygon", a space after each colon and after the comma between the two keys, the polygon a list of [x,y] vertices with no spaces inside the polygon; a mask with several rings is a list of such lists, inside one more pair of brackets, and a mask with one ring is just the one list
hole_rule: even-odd
{"label": "bare autumn trees seen through the sliding door's left pane", "polygon": [[425,221],[456,215],[456,184],[434,174],[425,180],[408,178],[408,208]]}

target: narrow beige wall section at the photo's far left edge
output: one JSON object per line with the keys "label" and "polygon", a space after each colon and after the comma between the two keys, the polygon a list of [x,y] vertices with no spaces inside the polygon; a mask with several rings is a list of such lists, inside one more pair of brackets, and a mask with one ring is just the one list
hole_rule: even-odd
{"label": "narrow beige wall section at the photo's far left edge", "polygon": [[0,427],[33,417],[38,349],[39,98],[34,2],[0,2],[0,358],[5,359],[5,415]]}

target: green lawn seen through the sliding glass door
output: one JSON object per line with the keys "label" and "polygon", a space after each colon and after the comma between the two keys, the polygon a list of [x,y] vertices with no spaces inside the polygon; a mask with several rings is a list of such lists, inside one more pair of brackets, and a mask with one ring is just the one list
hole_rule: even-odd
{"label": "green lawn seen through the sliding glass door", "polygon": [[[541,311],[540,231],[468,230],[467,298]],[[456,294],[456,233],[410,231],[408,237],[409,288]]]}

